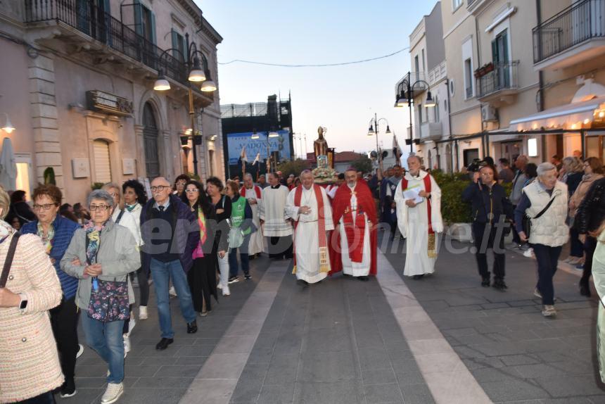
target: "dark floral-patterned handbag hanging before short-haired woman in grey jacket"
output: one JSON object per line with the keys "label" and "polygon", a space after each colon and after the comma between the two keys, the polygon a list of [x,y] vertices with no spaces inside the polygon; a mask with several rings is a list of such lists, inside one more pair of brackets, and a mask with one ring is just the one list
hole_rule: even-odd
{"label": "dark floral-patterned handbag hanging before short-haired woman in grey jacket", "polygon": [[[89,239],[87,237],[86,247],[88,247],[88,244]],[[87,263],[91,265],[88,257]],[[130,317],[128,280],[117,281],[116,279],[113,278],[113,281],[96,279],[96,288],[93,282],[95,279],[91,279],[93,285],[91,285],[88,303],[88,317],[100,322],[120,321]]]}

